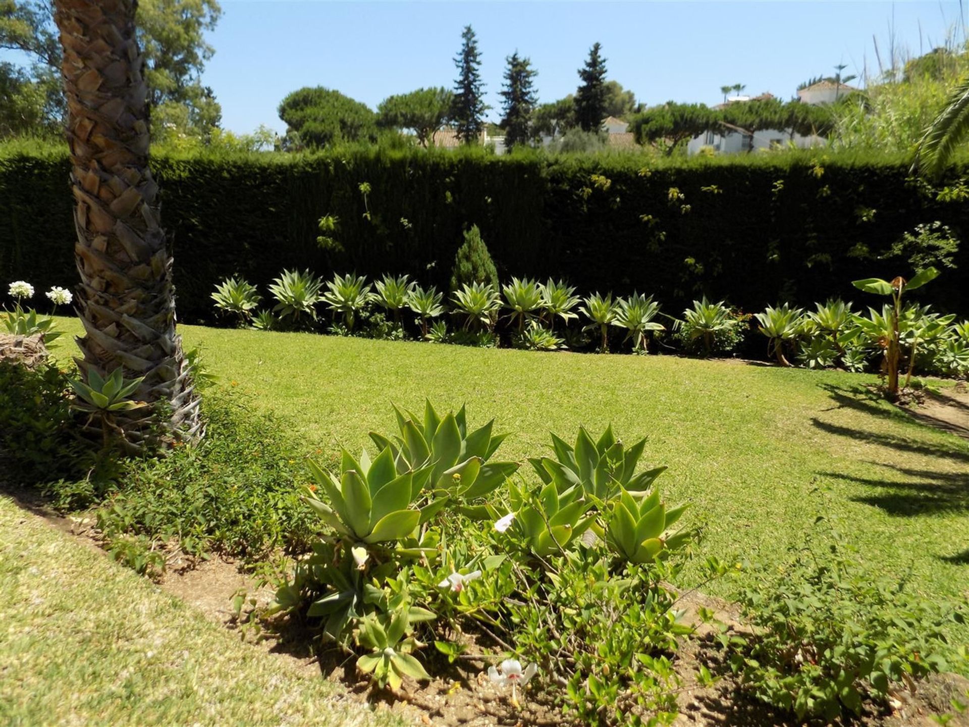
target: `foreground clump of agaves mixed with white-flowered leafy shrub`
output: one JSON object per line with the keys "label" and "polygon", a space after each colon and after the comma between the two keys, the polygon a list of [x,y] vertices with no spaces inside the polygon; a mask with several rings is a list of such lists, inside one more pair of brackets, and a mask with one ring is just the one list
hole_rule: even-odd
{"label": "foreground clump of agaves mixed with white-flowered leafy shrub", "polygon": [[377,687],[429,679],[433,643],[489,664],[514,709],[534,697],[588,722],[671,721],[676,637],[691,629],[663,582],[689,535],[653,486],[662,468],[635,471],[643,442],[553,435],[534,483],[492,461],[504,435],[469,427],[463,407],[395,413],[398,436],[370,434],[377,455],[310,465],[323,532],[268,613],[319,623]]}

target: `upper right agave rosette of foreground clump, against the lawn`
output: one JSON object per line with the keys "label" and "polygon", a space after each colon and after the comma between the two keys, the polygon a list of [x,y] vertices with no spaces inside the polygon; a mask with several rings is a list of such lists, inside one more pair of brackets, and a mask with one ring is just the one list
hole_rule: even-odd
{"label": "upper right agave rosette of foreground clump, against the lawn", "polygon": [[555,434],[551,435],[555,458],[529,458],[535,472],[546,485],[554,484],[565,491],[579,488],[605,501],[620,489],[639,495],[652,487],[666,467],[655,467],[637,473],[646,440],[643,438],[629,449],[615,438],[612,427],[594,440],[585,427],[578,427],[575,446]]}

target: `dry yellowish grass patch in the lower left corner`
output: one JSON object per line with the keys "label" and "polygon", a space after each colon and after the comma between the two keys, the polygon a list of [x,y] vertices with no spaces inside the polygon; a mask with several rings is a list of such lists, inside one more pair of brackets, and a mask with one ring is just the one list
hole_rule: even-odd
{"label": "dry yellowish grass patch in the lower left corner", "polygon": [[0,723],[363,725],[311,670],[0,496]]}

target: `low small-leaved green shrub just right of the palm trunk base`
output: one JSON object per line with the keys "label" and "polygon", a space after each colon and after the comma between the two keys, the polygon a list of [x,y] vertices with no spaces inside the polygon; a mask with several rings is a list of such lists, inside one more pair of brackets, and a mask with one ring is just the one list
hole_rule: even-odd
{"label": "low small-leaved green shrub just right of the palm trunk base", "polygon": [[[96,510],[109,543],[174,540],[185,553],[248,559],[277,548],[305,551],[314,520],[297,484],[308,478],[284,423],[218,389],[202,406],[206,431],[198,445],[120,465],[118,485]],[[64,499],[71,487],[65,482],[53,491]]]}

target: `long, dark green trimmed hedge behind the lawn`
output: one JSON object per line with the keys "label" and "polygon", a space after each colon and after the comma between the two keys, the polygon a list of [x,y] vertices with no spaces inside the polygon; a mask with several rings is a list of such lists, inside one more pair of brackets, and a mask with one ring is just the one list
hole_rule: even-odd
{"label": "long, dark green trimmed hedge behind the lawn", "polygon": [[[850,281],[909,274],[903,262],[877,259],[903,232],[940,220],[969,234],[969,204],[938,201],[902,160],[765,155],[644,168],[645,160],[359,149],[158,156],[152,167],[179,318],[189,322],[211,320],[209,295],[234,273],[264,295],[284,268],[408,272],[445,287],[472,223],[503,279],[562,276],[582,293],[637,289],[669,313],[703,294],[745,310],[830,296],[874,304]],[[0,149],[0,282],[46,290],[76,279],[68,170],[60,151]],[[361,182],[370,185],[365,199]],[[330,235],[342,250],[318,244],[324,215],[338,218]],[[967,314],[965,245],[956,264],[924,298]]]}

